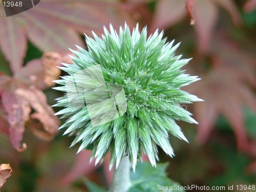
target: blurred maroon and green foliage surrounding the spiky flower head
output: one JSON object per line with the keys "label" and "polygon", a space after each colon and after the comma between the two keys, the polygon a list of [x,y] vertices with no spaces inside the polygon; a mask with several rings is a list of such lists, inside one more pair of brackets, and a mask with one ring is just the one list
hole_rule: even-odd
{"label": "blurred maroon and green foliage surrounding the spiky flower head", "polygon": [[[90,151],[76,155],[78,147],[69,148],[73,139],[57,133],[59,120],[49,108],[61,93],[51,80],[60,61],[70,62],[68,47],[86,47],[83,33],[100,34],[109,23],[118,29],[125,21],[147,25],[150,33],[164,29],[168,40],[181,41],[178,53],[193,57],[185,69],[202,78],[185,88],[205,100],[184,105],[199,122],[180,122],[189,144],[170,137],[175,158],[160,151],[167,175],[182,185],[256,184],[256,2],[196,0],[187,7],[193,26],[188,2],[41,0],[8,18],[0,4],[0,164],[13,170],[2,191],[88,191],[84,177],[108,188],[109,157],[94,167]],[[33,105],[35,93],[47,100]],[[13,122],[9,109],[21,117]]]}

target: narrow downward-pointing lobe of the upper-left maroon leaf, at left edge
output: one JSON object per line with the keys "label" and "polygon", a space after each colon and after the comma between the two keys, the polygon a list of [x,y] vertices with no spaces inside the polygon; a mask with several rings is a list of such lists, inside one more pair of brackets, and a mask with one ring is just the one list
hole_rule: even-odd
{"label": "narrow downward-pointing lobe of the upper-left maroon leaf, at left edge", "polygon": [[27,50],[26,33],[16,17],[0,18],[0,26],[0,46],[15,73],[23,65]]}

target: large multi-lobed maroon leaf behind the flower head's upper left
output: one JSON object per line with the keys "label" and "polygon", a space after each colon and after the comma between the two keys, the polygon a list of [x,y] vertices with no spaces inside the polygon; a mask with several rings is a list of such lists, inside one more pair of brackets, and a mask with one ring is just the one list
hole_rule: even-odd
{"label": "large multi-lobed maroon leaf behind the flower head's upper left", "polygon": [[[33,9],[19,13],[19,17],[0,18],[0,35],[5,37],[0,46],[16,73],[23,64],[27,38],[44,52],[68,53],[68,48],[84,45],[78,32],[101,33],[103,25],[119,26],[125,20],[133,25],[132,17],[121,7],[119,3],[99,0],[41,0]],[[1,9],[0,15],[2,12]]]}

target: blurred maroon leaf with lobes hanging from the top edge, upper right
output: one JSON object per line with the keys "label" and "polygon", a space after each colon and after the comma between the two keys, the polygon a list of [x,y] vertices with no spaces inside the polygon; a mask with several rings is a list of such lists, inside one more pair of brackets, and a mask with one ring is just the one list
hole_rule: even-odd
{"label": "blurred maroon leaf with lobes hanging from the top edge, upper right", "polygon": [[207,53],[218,19],[216,5],[220,5],[227,10],[234,24],[240,25],[242,23],[239,11],[231,0],[186,0],[186,2],[185,0],[160,0],[156,5],[150,32],[154,32],[156,28],[166,29],[180,22],[185,16],[184,8],[186,7],[190,16],[190,24],[194,24],[196,20],[195,29],[199,41],[199,51]]}

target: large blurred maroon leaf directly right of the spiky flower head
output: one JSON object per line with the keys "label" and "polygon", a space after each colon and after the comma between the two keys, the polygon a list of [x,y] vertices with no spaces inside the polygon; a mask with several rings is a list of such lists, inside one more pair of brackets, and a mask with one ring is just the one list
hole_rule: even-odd
{"label": "large blurred maroon leaf directly right of the spiky flower head", "polygon": [[256,86],[255,58],[224,34],[217,34],[213,42],[209,52],[211,70],[199,75],[201,81],[186,88],[204,99],[204,102],[194,105],[196,119],[199,121],[197,141],[204,143],[214,129],[217,117],[223,115],[236,135],[238,149],[248,152],[250,147],[243,107],[248,106],[256,112],[256,99],[252,89]]}

